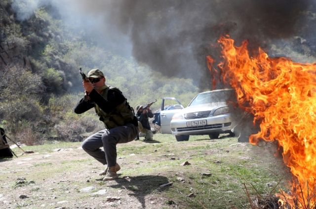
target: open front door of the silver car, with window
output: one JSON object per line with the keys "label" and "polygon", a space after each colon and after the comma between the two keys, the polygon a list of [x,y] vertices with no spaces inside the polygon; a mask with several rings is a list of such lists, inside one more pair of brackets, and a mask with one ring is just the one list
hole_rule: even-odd
{"label": "open front door of the silver car, with window", "polygon": [[171,134],[170,121],[175,113],[183,109],[180,101],[174,97],[163,97],[160,110],[160,126],[162,134]]}

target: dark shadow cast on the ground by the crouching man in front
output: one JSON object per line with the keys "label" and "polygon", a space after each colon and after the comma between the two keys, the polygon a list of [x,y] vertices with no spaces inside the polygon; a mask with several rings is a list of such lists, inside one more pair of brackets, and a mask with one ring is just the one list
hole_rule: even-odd
{"label": "dark shadow cast on the ground by the crouching man in front", "polygon": [[124,188],[130,191],[128,195],[134,196],[145,206],[145,197],[153,192],[163,191],[169,186],[160,187],[160,185],[168,183],[169,179],[163,176],[136,176],[136,177],[123,177],[116,179],[118,184],[111,185],[113,188]]}

